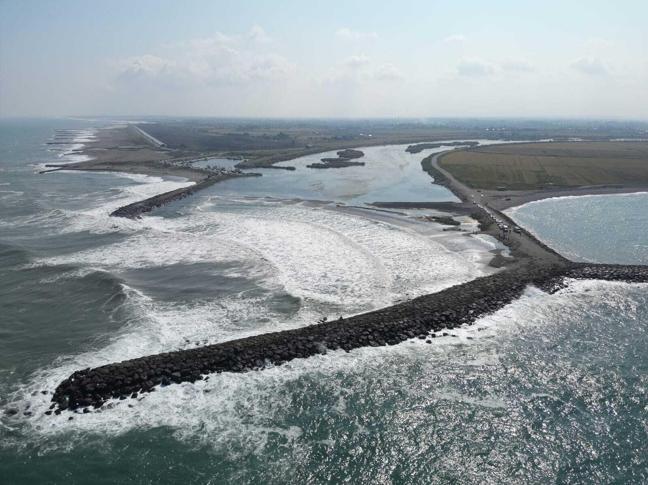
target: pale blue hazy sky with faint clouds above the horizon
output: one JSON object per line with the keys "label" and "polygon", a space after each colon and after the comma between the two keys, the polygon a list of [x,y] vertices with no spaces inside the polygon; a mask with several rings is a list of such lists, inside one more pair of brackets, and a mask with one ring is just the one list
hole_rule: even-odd
{"label": "pale blue hazy sky with faint clouds above the horizon", "polygon": [[0,117],[645,120],[646,25],[646,0],[0,0]]}

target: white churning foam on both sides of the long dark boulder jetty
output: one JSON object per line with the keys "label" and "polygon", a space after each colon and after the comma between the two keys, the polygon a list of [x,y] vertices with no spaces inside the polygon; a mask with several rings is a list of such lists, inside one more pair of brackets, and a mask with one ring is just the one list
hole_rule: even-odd
{"label": "white churning foam on both sides of the long dark boulder jetty", "polygon": [[[398,368],[399,363],[416,359],[434,369],[438,359],[453,356],[462,348],[480,346],[488,349],[486,353],[465,365],[496,365],[498,356],[489,345],[492,339],[506,338],[529,326],[551,324],[551,318],[560,312],[584,312],[592,298],[613,298],[615,303],[610,304],[633,315],[632,302],[615,290],[623,288],[622,283],[578,281],[555,295],[529,289],[520,300],[494,315],[452,330],[455,337],[438,337],[432,344],[416,339],[392,347],[329,352],[263,372],[225,373],[213,375],[206,382],[169,386],[141,401],[109,403],[101,412],[74,415],[73,421],[67,420],[68,413],[43,416],[50,396],[38,391],[54,389],[80,368],[188,348],[196,342],[216,343],[312,324],[322,311],[365,311],[438,291],[488,271],[476,261],[475,254],[487,253],[489,241],[443,232],[436,225],[406,217],[401,223],[397,216],[374,217],[371,211],[361,214],[331,210],[326,205],[200,198],[201,203],[184,209],[186,214],[179,218],[109,218],[108,213],[118,206],[187,183],[122,176],[141,183],[121,187],[94,208],[60,211],[58,217],[64,223],[56,225],[60,231],[119,231],[125,237],[104,247],[43,258],[39,264],[72,264],[81,266],[82,272],[123,274],[170,264],[234,262],[237,264],[232,271],[254,278],[271,290],[268,295],[283,288],[300,298],[301,307],[287,317],[272,311],[270,296],[165,302],[124,284],[122,308],[130,315],[129,322],[100,348],[67,356],[42,369],[14,396],[21,406],[31,402],[34,416],[27,421],[36,440],[66,434],[63,441],[72,447],[75,440],[89,433],[117,435],[136,428],[170,426],[182,440],[200,440],[213,446],[236,440],[243,441],[243,449],[254,450],[274,434],[288,441],[299,439],[300,428],[269,423],[290,399],[290,393],[282,390],[305,375],[316,376],[318,382],[339,393],[332,412],[343,414],[347,412],[344,395],[351,391],[340,387],[340,373],[380,377],[385,366]],[[33,392],[36,395],[32,396]],[[481,407],[502,405],[497,396],[477,399],[452,389],[436,397]],[[113,404],[117,405],[112,408]],[[60,441],[55,446],[60,446]]]}

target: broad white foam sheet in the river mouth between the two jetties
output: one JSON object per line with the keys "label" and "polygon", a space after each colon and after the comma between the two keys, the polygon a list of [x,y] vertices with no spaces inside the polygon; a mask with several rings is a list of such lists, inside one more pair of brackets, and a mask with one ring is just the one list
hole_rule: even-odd
{"label": "broad white foam sheet in the river mouth between the two jetties", "polygon": [[[81,215],[100,217],[121,204]],[[146,217],[123,242],[40,262],[110,270],[254,261],[274,268],[278,283],[294,296],[351,308],[438,291],[486,271],[474,262],[479,246],[454,253],[428,235],[357,214],[279,203],[209,209],[203,204],[177,219]]]}

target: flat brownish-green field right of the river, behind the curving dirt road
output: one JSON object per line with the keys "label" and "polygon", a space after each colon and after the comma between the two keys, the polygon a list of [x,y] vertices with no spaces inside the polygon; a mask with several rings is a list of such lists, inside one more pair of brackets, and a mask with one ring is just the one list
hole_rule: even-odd
{"label": "flat brownish-green field right of the river, behind the curving dirt road", "polygon": [[450,152],[439,163],[481,189],[648,186],[648,142],[496,145]]}

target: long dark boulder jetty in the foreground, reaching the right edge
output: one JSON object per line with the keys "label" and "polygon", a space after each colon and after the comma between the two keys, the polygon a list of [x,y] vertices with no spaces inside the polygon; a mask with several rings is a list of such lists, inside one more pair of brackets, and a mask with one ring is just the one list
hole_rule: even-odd
{"label": "long dark boulder jetty in the foreground, reaching the right edge", "polygon": [[511,303],[528,285],[553,292],[562,287],[564,278],[648,282],[648,267],[531,262],[349,318],[83,369],[56,388],[47,413],[96,409],[110,399],[137,397],[157,386],[195,382],[210,373],[262,369],[328,350],[394,345],[415,338],[431,342],[439,331],[471,324]]}

